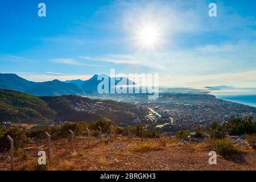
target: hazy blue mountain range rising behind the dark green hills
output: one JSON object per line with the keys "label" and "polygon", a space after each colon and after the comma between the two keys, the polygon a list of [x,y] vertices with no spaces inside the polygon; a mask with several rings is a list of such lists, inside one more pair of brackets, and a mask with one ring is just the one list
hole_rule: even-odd
{"label": "hazy blue mountain range rising behind the dark green hills", "polygon": [[[115,85],[118,84],[119,81],[122,81],[125,77],[109,77],[106,76],[110,81],[114,80]],[[94,75],[89,80],[52,80],[45,82],[34,82],[28,81],[18,75],[13,73],[0,73],[0,89],[8,89],[15,90],[19,92],[29,93],[34,96],[61,96],[64,94],[73,94],[73,95],[85,95],[97,93],[97,86],[101,82],[101,80],[97,80],[98,75]],[[117,81],[119,80],[119,81]],[[127,85],[135,84],[134,82],[130,82],[127,79]],[[110,88],[109,88],[110,90]]]}

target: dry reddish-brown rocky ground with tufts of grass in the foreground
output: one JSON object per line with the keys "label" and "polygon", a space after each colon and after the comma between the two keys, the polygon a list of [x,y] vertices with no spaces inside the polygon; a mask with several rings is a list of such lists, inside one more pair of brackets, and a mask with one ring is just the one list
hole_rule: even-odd
{"label": "dry reddish-brown rocky ground with tufts of grass in the foreground", "polygon": [[[232,138],[243,153],[232,158],[217,156],[217,164],[208,163],[209,155],[205,139],[180,141],[166,139],[166,146],[156,151],[138,152],[135,146],[158,144],[154,139],[128,139],[117,137],[112,142],[102,144],[100,139],[92,138],[87,146],[85,137],[74,141],[71,151],[69,139],[52,140],[51,160],[48,170],[256,170],[256,152],[237,138]],[[37,160],[40,150],[47,151],[46,141],[34,140],[23,148],[21,154],[15,152],[15,170],[38,169]],[[16,154],[17,153],[17,154]],[[0,170],[10,170],[7,152],[0,153]]]}

